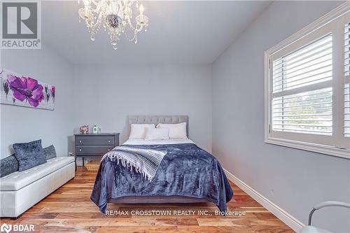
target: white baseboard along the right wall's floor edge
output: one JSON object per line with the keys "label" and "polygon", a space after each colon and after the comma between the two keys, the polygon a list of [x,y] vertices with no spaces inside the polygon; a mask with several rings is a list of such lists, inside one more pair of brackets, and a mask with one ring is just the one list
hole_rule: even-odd
{"label": "white baseboard along the right wall's floor edge", "polygon": [[[239,180],[236,176],[232,175],[228,170],[223,169],[225,171],[226,176],[228,176],[228,179],[235,183],[241,190],[246,192],[249,196],[251,196],[253,199],[255,199],[256,202],[258,202],[260,205],[264,206],[268,211],[274,214],[277,218],[279,218],[283,223],[286,223],[288,227],[292,228],[295,232],[300,232],[302,227],[304,227],[304,224],[301,223],[299,220],[291,216],[289,213],[281,209],[279,206],[271,202],[266,197],[262,196],[259,192],[255,191],[253,188],[251,188],[249,185],[244,183],[243,181]],[[235,196],[234,196],[235,197]]]}

